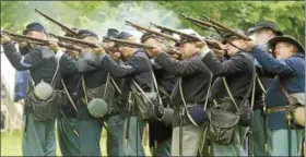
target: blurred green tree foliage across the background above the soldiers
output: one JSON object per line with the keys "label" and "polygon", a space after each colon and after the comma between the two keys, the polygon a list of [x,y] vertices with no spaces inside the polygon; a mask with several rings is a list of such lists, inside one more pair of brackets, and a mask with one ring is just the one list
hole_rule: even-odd
{"label": "blurred green tree foliage across the background above the soldiers", "polygon": [[[132,9],[120,7],[131,3]],[[156,7],[151,7],[152,4]],[[21,32],[33,21],[44,23],[52,32],[61,29],[34,12],[34,9],[56,17],[69,26],[101,31],[103,23],[121,22],[126,17],[138,19],[140,15],[153,13],[152,19],[142,19],[141,24],[158,20],[160,9],[173,13],[185,13],[193,17],[208,15],[231,27],[247,31],[260,20],[271,20],[278,23],[279,29],[305,43],[305,8],[303,1],[2,1],[1,27],[8,31]],[[156,9],[155,9],[156,8]],[[163,12],[163,15],[165,13]],[[210,32],[199,28],[191,23],[179,20],[175,14],[161,19],[161,23],[175,28],[191,27],[202,35]],[[143,21],[143,22],[142,22]],[[117,24],[110,23],[110,24]],[[113,25],[109,24],[109,27]],[[105,28],[106,29],[106,28]],[[61,32],[62,33],[62,32]]]}

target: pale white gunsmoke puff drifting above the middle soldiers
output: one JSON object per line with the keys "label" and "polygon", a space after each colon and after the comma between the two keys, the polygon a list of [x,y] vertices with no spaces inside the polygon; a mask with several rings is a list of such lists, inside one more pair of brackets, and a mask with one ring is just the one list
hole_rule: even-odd
{"label": "pale white gunsmoke puff drifting above the middle soldiers", "polygon": [[106,19],[99,26],[94,27],[94,31],[99,36],[105,35],[107,29],[111,27],[133,33],[137,37],[140,37],[142,33],[131,26],[127,26],[125,21],[130,21],[145,27],[150,27],[150,22],[173,28],[181,27],[181,23],[175,12],[166,10],[154,2],[123,2],[116,10],[117,13],[111,19]]}

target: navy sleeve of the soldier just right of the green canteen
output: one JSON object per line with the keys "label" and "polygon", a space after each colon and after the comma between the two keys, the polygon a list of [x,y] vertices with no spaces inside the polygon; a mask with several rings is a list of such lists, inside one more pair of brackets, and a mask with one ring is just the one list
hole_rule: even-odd
{"label": "navy sleeve of the soldier just right of the green canteen", "polygon": [[151,70],[151,64],[144,57],[131,57],[127,64],[119,65],[109,56],[104,55],[99,65],[114,77],[126,77]]}

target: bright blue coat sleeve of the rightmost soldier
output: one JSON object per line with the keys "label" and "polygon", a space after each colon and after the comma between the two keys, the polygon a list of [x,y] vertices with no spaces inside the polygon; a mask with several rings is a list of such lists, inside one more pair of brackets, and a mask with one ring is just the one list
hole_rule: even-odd
{"label": "bright blue coat sleeve of the rightmost soldier", "polygon": [[276,75],[294,75],[296,73],[293,60],[276,60],[258,46],[252,48],[252,56],[268,73]]}

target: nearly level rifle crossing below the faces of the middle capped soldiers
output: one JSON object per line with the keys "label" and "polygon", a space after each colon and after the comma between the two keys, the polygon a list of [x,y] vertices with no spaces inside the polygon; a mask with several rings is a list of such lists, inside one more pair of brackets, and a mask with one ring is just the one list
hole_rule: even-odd
{"label": "nearly level rifle crossing below the faces of the middle capped soldiers", "polygon": [[144,45],[144,44],[138,44],[133,41],[122,40],[122,39],[115,39],[109,37],[103,37],[103,41],[114,41],[115,46],[128,46],[133,48],[143,48],[143,49],[153,49],[153,46]]}

